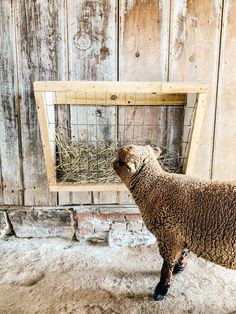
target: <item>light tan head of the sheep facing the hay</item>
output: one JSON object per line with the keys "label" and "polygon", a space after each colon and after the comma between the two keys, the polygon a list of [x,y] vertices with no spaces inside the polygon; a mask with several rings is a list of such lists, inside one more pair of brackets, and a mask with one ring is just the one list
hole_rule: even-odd
{"label": "light tan head of the sheep facing the hay", "polygon": [[119,149],[118,158],[113,162],[113,168],[129,188],[132,175],[137,173],[144,164],[157,161],[160,153],[159,147],[152,148],[149,145],[124,146]]}

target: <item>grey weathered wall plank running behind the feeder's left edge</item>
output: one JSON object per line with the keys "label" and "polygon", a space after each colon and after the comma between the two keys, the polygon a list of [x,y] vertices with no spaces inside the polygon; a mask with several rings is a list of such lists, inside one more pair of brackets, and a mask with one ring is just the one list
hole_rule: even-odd
{"label": "grey weathered wall plank running behind the feeder's left edge", "polygon": [[63,1],[16,1],[16,16],[25,205],[55,205],[56,195],[47,186],[32,83],[65,79]]}

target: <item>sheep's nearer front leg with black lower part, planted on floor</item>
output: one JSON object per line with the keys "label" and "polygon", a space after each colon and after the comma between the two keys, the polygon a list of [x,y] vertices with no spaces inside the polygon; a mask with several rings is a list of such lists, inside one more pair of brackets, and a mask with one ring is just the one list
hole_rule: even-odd
{"label": "sheep's nearer front leg with black lower part, planted on floor", "polygon": [[156,286],[153,296],[156,301],[163,300],[164,296],[167,294],[170,288],[174,266],[182,252],[182,248],[174,241],[159,243],[159,249],[164,261],[161,268],[161,278]]}

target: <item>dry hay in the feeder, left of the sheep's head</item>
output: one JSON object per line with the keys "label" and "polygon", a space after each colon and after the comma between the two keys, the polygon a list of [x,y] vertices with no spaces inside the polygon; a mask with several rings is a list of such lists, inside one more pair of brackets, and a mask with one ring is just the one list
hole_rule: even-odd
{"label": "dry hay in the feeder, left of the sheep's head", "polygon": [[63,129],[55,130],[56,170],[60,182],[118,183],[121,182],[112,168],[117,149],[106,141],[73,142],[63,134]]}

